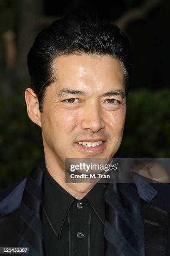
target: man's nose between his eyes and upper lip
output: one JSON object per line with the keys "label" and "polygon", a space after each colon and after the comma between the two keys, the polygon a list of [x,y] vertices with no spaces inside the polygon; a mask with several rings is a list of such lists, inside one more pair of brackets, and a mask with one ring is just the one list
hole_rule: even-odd
{"label": "man's nose between his eyes and upper lip", "polygon": [[105,123],[102,118],[102,110],[95,102],[84,108],[82,113],[81,128],[88,129],[93,133],[105,128]]}

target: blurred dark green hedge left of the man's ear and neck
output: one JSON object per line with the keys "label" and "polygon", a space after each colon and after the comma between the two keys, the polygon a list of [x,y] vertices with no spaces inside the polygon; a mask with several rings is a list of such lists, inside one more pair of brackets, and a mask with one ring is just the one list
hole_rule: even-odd
{"label": "blurred dark green hedge left of the man's ear and neck", "polygon": [[28,118],[24,100],[0,98],[0,188],[27,177],[43,154],[41,128]]}

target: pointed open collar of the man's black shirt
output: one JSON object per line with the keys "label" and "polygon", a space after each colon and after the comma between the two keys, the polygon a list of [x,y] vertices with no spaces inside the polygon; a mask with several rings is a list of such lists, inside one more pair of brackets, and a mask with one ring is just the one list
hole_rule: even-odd
{"label": "pointed open collar of the man's black shirt", "polygon": [[[105,219],[105,184],[97,183],[83,198],[95,211],[97,217],[104,223]],[[48,218],[50,219],[58,238],[62,232],[62,226],[67,217],[70,206],[75,201],[60,184],[58,184],[47,171],[45,166],[43,202]],[[54,218],[55,215],[55,218]]]}

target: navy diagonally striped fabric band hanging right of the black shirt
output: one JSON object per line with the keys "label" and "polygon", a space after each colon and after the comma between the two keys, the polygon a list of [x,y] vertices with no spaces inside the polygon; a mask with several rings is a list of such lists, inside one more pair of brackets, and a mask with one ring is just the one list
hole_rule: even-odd
{"label": "navy diagonally striped fabric band hanging right of the black shirt", "polygon": [[144,256],[140,197],[134,184],[108,184],[105,202],[105,256]]}

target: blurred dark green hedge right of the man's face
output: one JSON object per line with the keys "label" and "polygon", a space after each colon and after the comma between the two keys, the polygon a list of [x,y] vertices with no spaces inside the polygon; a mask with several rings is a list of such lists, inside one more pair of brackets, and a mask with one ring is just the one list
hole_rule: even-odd
{"label": "blurred dark green hedge right of the man's face", "polygon": [[156,158],[168,158],[169,132],[170,89],[133,90],[128,98],[125,130],[118,155],[133,157],[136,152],[144,152]]}

